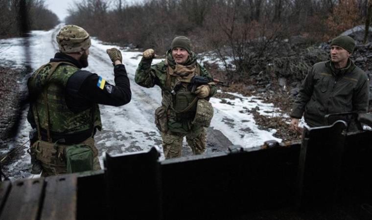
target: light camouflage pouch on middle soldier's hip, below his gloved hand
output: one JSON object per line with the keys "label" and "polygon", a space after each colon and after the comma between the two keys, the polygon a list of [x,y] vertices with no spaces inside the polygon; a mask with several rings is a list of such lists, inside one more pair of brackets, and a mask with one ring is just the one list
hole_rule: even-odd
{"label": "light camouflage pouch on middle soldier's hip, below his gloved hand", "polygon": [[209,127],[210,121],[213,118],[213,113],[212,104],[205,99],[199,99],[192,124],[201,127]]}

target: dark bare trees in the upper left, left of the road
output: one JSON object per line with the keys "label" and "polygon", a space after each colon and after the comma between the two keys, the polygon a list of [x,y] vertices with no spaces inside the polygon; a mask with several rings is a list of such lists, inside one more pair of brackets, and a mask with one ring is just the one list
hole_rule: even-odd
{"label": "dark bare trees in the upper left, left of the road", "polygon": [[0,38],[22,36],[27,30],[51,29],[60,22],[46,8],[45,0],[0,0],[0,21]]}

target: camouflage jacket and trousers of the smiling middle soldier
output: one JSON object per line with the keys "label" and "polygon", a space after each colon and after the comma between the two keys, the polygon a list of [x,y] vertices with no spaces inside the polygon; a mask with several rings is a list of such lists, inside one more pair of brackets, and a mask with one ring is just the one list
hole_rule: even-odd
{"label": "camouflage jacket and trousers of the smiling middle soldier", "polygon": [[[152,88],[155,85],[162,88],[162,107],[156,110],[155,114],[156,120],[160,120],[159,122],[156,121],[156,124],[162,133],[165,158],[181,156],[184,136],[186,136],[186,141],[193,154],[203,154],[206,150],[206,128],[192,124],[195,109],[184,113],[177,113],[174,110],[175,95],[172,95],[170,91],[180,81],[182,87],[178,92],[189,91],[187,86],[193,75],[208,78],[211,78],[211,76],[203,66],[196,62],[196,55],[193,52],[189,54],[184,65],[175,63],[171,50],[168,50],[166,55],[166,61],[152,66],[152,59],[142,58],[136,71],[135,81],[145,88]],[[209,97],[215,93],[215,86],[210,85]]]}

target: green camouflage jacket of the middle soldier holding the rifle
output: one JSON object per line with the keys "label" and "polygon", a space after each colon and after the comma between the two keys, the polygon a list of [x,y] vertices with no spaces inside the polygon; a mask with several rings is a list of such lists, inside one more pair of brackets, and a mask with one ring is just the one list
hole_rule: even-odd
{"label": "green camouflage jacket of the middle soldier holding the rifle", "polygon": [[[162,89],[162,105],[168,110],[168,129],[171,132],[181,132],[187,133],[191,130],[195,131],[197,129],[194,125],[191,124],[190,119],[179,119],[176,117],[176,113],[172,110],[171,107],[174,105],[174,96],[170,94],[170,91],[177,83],[174,76],[170,76],[167,80],[167,68],[175,68],[175,62],[172,58],[171,51],[167,51],[167,62],[162,61],[159,64],[151,65],[152,59],[144,59],[140,61],[140,64],[136,70],[135,81],[138,85],[145,88],[152,88],[155,85],[159,86]],[[197,75],[203,77],[212,78],[203,66],[196,62],[196,55],[192,52],[186,61],[185,66],[196,65]],[[168,83],[167,83],[168,82]],[[170,83],[169,83],[170,82]],[[186,91],[187,88],[181,88],[179,91]],[[216,93],[217,89],[214,85],[210,85],[209,97],[213,96]]]}

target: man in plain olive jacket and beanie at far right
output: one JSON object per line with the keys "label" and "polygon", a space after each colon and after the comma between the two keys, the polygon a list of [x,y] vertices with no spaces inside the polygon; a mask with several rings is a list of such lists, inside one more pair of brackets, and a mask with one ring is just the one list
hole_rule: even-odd
{"label": "man in plain olive jacket and beanie at far right", "polygon": [[331,60],[312,66],[302,82],[291,113],[291,129],[299,130],[303,113],[307,125],[318,127],[326,125],[327,114],[367,112],[369,80],[349,58],[354,48],[355,41],[349,36],[332,40]]}

